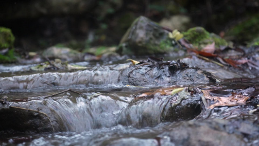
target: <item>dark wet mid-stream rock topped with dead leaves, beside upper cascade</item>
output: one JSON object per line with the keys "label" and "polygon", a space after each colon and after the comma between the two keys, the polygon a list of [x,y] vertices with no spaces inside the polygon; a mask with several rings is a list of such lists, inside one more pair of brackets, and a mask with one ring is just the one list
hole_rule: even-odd
{"label": "dark wet mid-stream rock topped with dead leaves, beside upper cascade", "polygon": [[130,66],[121,72],[119,80],[133,86],[146,85],[190,85],[195,83],[216,82],[217,79],[206,71],[189,68],[180,61],[175,64],[142,63]]}

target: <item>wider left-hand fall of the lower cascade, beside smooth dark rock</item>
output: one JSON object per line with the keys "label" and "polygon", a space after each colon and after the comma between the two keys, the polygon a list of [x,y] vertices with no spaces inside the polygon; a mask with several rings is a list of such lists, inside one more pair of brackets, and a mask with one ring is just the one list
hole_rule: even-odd
{"label": "wider left-hand fall of the lower cascade, beside smooth dark rock", "polygon": [[[128,105],[126,100],[121,100],[126,97],[120,98],[106,95],[93,97],[83,94],[78,97],[62,97],[46,101],[47,106],[62,119],[62,124],[67,128],[64,131],[83,132],[115,126],[121,110]],[[129,97],[127,100],[130,100]]]}

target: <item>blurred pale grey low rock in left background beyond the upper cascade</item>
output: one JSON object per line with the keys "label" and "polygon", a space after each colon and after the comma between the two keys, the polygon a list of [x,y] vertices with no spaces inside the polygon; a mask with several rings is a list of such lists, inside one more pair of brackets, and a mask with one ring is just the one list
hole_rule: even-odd
{"label": "blurred pale grey low rock in left background beyond the upper cascade", "polygon": [[59,58],[65,61],[83,60],[83,54],[70,48],[50,47],[46,49],[42,55],[49,59]]}

